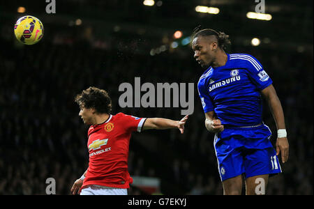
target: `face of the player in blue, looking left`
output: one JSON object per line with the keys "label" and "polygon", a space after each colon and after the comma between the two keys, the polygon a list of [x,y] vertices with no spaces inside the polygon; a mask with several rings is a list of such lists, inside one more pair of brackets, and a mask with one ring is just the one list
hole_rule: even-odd
{"label": "face of the player in blue, looking left", "polygon": [[192,49],[195,60],[202,68],[208,68],[212,65],[216,56],[216,42],[211,41],[208,37],[197,36],[193,39]]}

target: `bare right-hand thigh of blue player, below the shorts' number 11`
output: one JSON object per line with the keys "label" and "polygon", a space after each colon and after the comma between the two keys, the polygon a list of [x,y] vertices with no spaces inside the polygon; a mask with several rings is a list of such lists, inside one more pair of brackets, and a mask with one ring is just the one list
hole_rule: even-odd
{"label": "bare right-hand thigh of blue player, below the shorts' number 11", "polygon": [[247,195],[265,194],[268,178],[269,174],[246,178],[246,194]]}

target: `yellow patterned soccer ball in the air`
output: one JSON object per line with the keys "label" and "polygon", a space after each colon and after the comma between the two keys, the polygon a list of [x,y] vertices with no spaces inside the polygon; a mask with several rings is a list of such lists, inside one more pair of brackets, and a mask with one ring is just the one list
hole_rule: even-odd
{"label": "yellow patterned soccer ball in the air", "polygon": [[21,17],[14,26],[15,37],[25,45],[36,44],[43,38],[43,31],[43,23],[31,15]]}

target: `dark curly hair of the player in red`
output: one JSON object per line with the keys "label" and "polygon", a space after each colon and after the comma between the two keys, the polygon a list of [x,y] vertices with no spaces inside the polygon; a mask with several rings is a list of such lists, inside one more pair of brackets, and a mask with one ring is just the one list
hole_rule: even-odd
{"label": "dark curly hair of the player in red", "polygon": [[94,108],[98,114],[110,114],[112,111],[112,103],[107,91],[94,86],[76,95],[75,102],[80,106],[80,109]]}

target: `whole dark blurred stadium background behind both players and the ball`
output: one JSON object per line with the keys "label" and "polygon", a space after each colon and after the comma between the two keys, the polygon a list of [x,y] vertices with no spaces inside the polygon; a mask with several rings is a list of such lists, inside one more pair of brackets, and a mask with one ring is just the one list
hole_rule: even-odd
{"label": "whole dark blurred stadium background behind both players and the ball", "polygon": [[[184,38],[195,27],[224,31],[227,52],[255,56],[274,81],[285,112],[290,157],[283,174],[269,179],[267,194],[313,194],[313,1],[265,1],[270,21],[251,20],[255,1],[142,0],[1,1],[0,6],[0,194],[45,194],[54,178],[57,194],[70,187],[88,166],[88,127],[73,98],[89,86],[106,89],[113,114],[179,120],[181,108],[120,108],[119,84],[194,83],[194,112],[184,134],[179,130],[135,133],[130,140],[131,176],[160,180],[162,194],[223,194],[213,148],[197,95],[202,69]],[[197,13],[196,6],[220,9]],[[24,13],[17,13],[18,7]],[[33,15],[44,25],[38,44],[21,45],[13,26]],[[183,36],[175,39],[175,31]],[[260,45],[251,45],[252,38]],[[174,43],[174,42],[177,42]],[[162,47],[163,46],[163,47]],[[143,93],[142,93],[143,94]],[[267,104],[264,122],[276,124]],[[157,191],[158,192],[158,191]],[[146,194],[132,186],[129,194]]]}

